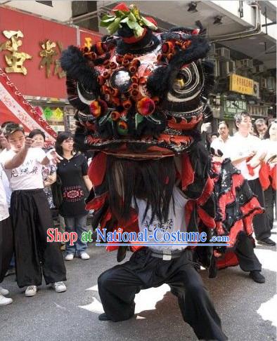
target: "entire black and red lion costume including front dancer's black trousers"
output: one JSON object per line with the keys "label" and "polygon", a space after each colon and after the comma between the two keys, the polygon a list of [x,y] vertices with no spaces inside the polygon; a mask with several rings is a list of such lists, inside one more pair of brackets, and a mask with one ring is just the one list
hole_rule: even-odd
{"label": "entire black and red lion costume including front dancer's black trousers", "polygon": [[[82,150],[96,152],[89,168],[94,190],[87,199],[87,208],[95,210],[94,226],[139,232],[136,198],[146,202],[144,218],[151,208],[150,225],[155,218],[167,220],[177,184],[186,197],[186,231],[230,236],[232,247],[239,232],[252,233],[252,217],[261,208],[238,170],[228,160],[212,163],[201,143],[197,126],[212,119],[207,101],[214,84],[213,65],[205,60],[210,48],[205,32],[202,27],[154,32],[153,18],[124,4],[105,15],[101,25],[109,36],[90,48],[70,46],[61,58],[68,99],[77,109],[75,141]],[[117,260],[123,260],[127,248],[108,246],[116,249]],[[187,249],[172,260],[154,257],[143,246],[131,250],[130,261],[98,279],[106,319],[129,319],[135,293],[169,283],[195,334],[226,340],[195,272],[197,260],[214,276],[222,248],[197,247],[193,260]],[[153,266],[160,274],[153,275]],[[196,312],[195,306],[202,308]]]}

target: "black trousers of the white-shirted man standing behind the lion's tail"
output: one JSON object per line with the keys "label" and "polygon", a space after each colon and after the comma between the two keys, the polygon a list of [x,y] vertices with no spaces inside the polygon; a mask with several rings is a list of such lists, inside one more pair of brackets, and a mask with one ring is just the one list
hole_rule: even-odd
{"label": "black trousers of the white-shirted man standing behind the lion's tail", "polygon": [[[257,195],[259,204],[264,207],[264,192],[259,182],[259,178],[255,180],[248,180],[249,186],[252,192]],[[266,217],[266,213],[255,215],[253,219],[253,227],[257,240],[263,240],[271,236],[271,229],[269,227],[269,220]]]}

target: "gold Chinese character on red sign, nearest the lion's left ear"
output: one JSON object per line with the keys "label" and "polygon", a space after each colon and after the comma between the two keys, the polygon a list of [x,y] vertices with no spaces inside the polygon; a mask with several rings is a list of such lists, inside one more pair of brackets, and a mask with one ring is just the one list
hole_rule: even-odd
{"label": "gold Chinese character on red sign, nearest the lion's left ear", "polygon": [[[41,57],[41,62],[39,63],[39,68],[46,68],[46,77],[49,78],[51,75],[51,66],[54,66],[53,74],[58,74],[59,78],[65,76],[65,72],[60,69],[60,60],[56,58],[57,55],[63,51],[63,45],[57,41],[57,44],[53,41],[47,39],[40,43],[42,51],[39,52]],[[56,50],[58,46],[59,52]],[[56,58],[56,59],[55,59]]]}

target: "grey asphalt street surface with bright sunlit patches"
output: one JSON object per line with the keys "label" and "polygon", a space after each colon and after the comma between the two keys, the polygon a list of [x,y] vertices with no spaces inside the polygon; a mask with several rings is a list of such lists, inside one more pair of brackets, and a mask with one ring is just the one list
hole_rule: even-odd
{"label": "grey asphalt street surface with bright sunlit patches", "polygon": [[[276,225],[272,239],[277,242]],[[263,265],[264,284],[253,282],[239,267],[219,271],[216,279],[201,271],[229,340],[276,340],[276,248],[257,246],[255,253]],[[167,285],[136,295],[136,315],[129,321],[98,321],[103,307],[97,278],[117,264],[116,253],[92,243],[89,255],[90,260],[66,262],[65,293],[42,285],[36,296],[25,297],[15,275],[6,277],[2,286],[11,291],[13,304],[0,307],[0,340],[197,340]]]}

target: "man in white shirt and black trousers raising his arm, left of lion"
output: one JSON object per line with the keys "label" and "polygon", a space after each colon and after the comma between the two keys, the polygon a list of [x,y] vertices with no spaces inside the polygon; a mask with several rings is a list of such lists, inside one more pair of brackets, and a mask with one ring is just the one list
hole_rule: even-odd
{"label": "man in white shirt and black trousers raising his arm, left of lion", "polygon": [[16,123],[9,123],[4,135],[11,145],[1,164],[13,191],[11,220],[18,286],[27,286],[25,295],[34,296],[41,285],[42,267],[46,284],[63,292],[65,265],[58,243],[47,243],[47,229],[53,227],[53,221],[41,175],[42,165],[58,161],[59,156],[54,150],[45,154],[40,148],[31,148],[34,141],[25,138],[22,126]]}

